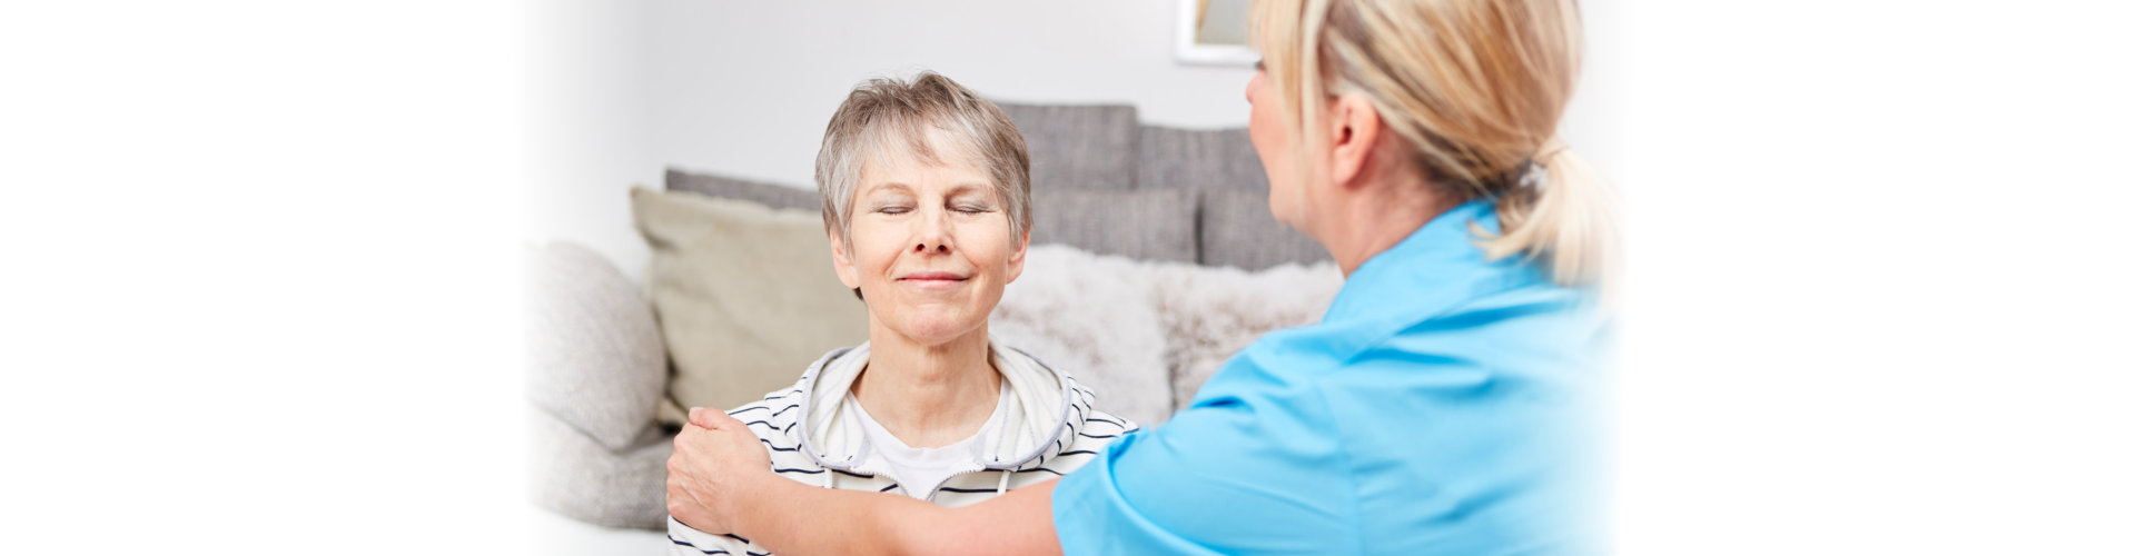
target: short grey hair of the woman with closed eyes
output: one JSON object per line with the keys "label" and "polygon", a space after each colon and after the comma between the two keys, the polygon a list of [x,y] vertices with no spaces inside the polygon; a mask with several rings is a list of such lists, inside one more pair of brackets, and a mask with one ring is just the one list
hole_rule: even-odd
{"label": "short grey hair of the woman with closed eyes", "polygon": [[[955,143],[929,145],[927,128],[946,130]],[[816,190],[822,197],[822,225],[837,240],[852,244],[852,197],[859,190],[861,165],[882,160],[904,145],[927,165],[942,165],[936,148],[957,150],[985,165],[993,188],[1008,212],[1010,237],[1032,229],[1032,154],[1023,133],[1008,122],[1002,107],[978,98],[972,90],[931,71],[910,81],[876,77],[852,88],[822,130],[816,152]]]}

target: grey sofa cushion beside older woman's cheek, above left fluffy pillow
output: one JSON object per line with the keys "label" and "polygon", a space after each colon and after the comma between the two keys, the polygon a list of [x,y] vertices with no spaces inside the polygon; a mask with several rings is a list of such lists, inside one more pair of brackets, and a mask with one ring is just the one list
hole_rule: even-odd
{"label": "grey sofa cushion beside older woman's cheek, above left fluffy pillow", "polygon": [[1034,190],[1032,244],[1194,263],[1194,190]]}

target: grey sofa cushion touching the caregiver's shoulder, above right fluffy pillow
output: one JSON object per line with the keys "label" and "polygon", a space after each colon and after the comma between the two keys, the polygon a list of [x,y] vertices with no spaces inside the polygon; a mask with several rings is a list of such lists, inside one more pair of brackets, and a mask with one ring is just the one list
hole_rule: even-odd
{"label": "grey sofa cushion touching the caregiver's shoulder, above right fluffy pillow", "polygon": [[1282,263],[1331,261],[1314,237],[1269,214],[1269,190],[1200,190],[1200,263],[1265,269]]}

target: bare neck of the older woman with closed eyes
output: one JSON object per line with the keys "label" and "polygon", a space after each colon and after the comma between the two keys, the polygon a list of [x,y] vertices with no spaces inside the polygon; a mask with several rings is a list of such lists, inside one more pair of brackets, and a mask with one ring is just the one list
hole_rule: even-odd
{"label": "bare neck of the older woman with closed eyes", "polygon": [[993,417],[1002,374],[993,370],[985,325],[927,346],[878,323],[867,344],[867,368],[852,381],[852,396],[906,445],[953,445]]}

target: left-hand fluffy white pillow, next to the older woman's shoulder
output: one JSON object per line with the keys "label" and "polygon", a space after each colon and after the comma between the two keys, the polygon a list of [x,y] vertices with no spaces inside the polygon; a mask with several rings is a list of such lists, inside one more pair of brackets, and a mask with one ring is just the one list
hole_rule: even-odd
{"label": "left-hand fluffy white pillow, next to the older woman's shoulder", "polygon": [[1149,269],[1124,257],[1032,246],[987,334],[1087,385],[1098,408],[1162,423],[1173,415],[1173,387]]}

